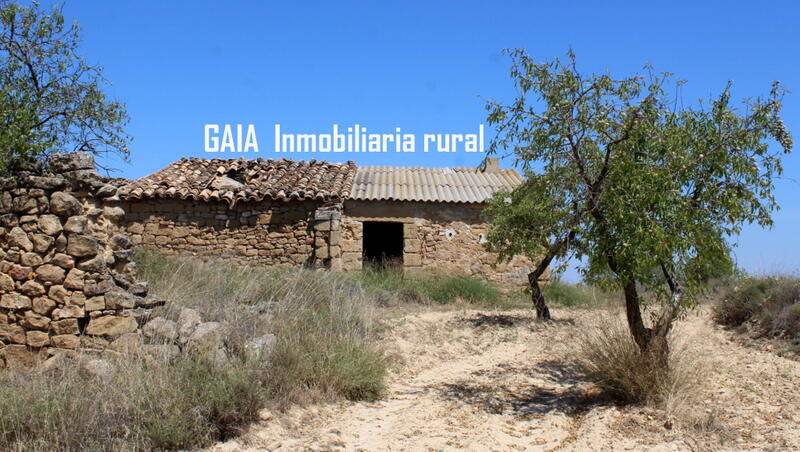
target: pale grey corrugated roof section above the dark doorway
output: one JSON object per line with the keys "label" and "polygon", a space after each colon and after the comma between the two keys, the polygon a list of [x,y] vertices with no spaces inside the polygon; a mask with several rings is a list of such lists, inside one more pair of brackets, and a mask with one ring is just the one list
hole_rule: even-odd
{"label": "pale grey corrugated roof section above the dark doorway", "polygon": [[359,166],[350,199],[481,203],[513,190],[522,177],[513,169]]}

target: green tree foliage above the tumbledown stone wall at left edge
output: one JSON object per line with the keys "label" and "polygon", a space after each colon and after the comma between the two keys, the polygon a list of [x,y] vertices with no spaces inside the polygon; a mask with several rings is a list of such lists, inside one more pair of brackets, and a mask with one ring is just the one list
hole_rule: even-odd
{"label": "green tree foliage above the tumbledown stone wall at left edge", "polygon": [[77,53],[80,28],[61,7],[0,2],[0,174],[54,152],[128,157],[128,116],[103,92],[99,66]]}

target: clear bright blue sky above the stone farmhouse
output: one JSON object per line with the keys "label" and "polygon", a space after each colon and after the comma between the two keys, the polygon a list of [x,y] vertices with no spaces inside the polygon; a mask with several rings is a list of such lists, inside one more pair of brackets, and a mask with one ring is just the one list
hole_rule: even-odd
{"label": "clear bright blue sky above the stone farmhouse", "polygon": [[[500,55],[512,47],[540,60],[571,47],[586,72],[622,76],[652,63],[689,81],[684,102],[728,80],[734,98],[767,94],[780,80],[795,91],[784,120],[800,142],[800,4],[792,1],[72,0],[64,12],[84,29],[83,55],[105,67],[110,93],[128,106],[132,163],[114,162],[124,177],[181,156],[284,156],[273,149],[276,123],[296,133],[335,123],[475,133],[485,98],[513,97]],[[259,154],[205,153],[208,123],[254,124]],[[419,150],[300,157],[412,166],[482,158]],[[790,180],[800,179],[800,156],[788,156],[785,170],[775,227],[748,227],[738,240],[747,270],[800,269],[800,184]]]}

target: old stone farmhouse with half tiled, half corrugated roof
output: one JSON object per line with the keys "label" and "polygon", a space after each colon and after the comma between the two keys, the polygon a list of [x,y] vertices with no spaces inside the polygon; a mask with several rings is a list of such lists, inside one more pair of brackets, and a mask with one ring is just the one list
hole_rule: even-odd
{"label": "old stone farmhouse with half tiled, half corrugated roof", "polygon": [[119,188],[118,227],[168,254],[353,271],[365,263],[527,284],[530,262],[482,246],[484,203],[522,182],[475,168],[183,158]]}

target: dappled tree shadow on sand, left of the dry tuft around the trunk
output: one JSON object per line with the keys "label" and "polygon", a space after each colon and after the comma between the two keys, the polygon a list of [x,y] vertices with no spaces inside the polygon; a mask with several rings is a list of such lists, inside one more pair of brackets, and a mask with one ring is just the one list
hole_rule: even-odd
{"label": "dappled tree shadow on sand, left of the dry tuft around the trunk", "polygon": [[440,394],[480,407],[492,414],[519,417],[563,413],[578,416],[598,406],[614,405],[614,400],[588,385],[574,369],[559,361],[543,361],[532,367],[500,365],[489,371],[474,372],[480,380],[501,382],[511,375],[533,377],[541,384],[478,383],[466,379],[441,385]]}

